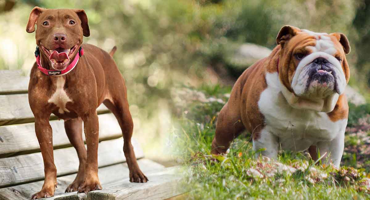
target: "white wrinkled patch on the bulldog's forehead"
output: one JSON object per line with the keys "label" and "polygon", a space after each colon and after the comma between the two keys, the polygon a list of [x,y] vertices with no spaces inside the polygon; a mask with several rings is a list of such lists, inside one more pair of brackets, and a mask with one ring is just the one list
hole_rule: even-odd
{"label": "white wrinkled patch on the bulldog's forehead", "polygon": [[320,51],[333,55],[337,51],[334,47],[332,39],[330,39],[330,37],[328,36],[329,34],[325,32],[312,32],[305,29],[303,29],[302,31],[316,38],[315,46],[307,46],[307,48],[310,48],[312,50],[312,53]]}

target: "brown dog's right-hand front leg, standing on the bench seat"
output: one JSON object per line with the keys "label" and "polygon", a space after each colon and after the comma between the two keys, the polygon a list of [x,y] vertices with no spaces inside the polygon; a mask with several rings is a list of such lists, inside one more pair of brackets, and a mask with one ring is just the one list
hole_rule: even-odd
{"label": "brown dog's right-hand front leg, standing on the bench seat", "polygon": [[95,109],[89,110],[81,116],[84,121],[84,132],[87,144],[87,160],[85,165],[85,180],[78,192],[88,193],[92,190],[101,190],[98,178],[98,144],[99,144],[99,121]]}

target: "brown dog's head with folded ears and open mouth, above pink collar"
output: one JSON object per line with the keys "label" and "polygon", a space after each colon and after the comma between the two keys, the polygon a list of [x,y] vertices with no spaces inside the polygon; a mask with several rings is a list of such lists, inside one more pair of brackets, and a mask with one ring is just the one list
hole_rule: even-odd
{"label": "brown dog's head with folded ears and open mouth, above pink collar", "polygon": [[41,58],[47,59],[55,70],[64,70],[77,54],[83,36],[89,36],[84,10],[33,8],[27,32],[36,30],[36,44]]}

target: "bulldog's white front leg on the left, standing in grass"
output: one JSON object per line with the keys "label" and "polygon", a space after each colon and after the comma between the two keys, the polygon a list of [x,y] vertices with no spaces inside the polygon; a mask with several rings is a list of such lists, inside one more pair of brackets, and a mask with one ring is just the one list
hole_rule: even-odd
{"label": "bulldog's white front leg on the left, standing in grass", "polygon": [[258,151],[259,149],[265,148],[265,151],[260,151],[259,154],[255,154],[258,158],[259,155],[266,156],[268,158],[277,159],[277,152],[279,151],[279,138],[271,132],[263,128],[261,131],[261,137],[258,139],[253,138],[253,150]]}

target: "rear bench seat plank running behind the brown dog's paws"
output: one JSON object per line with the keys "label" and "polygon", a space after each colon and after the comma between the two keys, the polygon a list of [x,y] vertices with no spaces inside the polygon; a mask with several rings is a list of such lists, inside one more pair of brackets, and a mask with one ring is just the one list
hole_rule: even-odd
{"label": "rear bench seat plank running behind the brown dog's paws", "polygon": [[[138,164],[144,173],[155,172],[164,169],[164,166],[156,162],[150,161],[148,159],[139,159]],[[127,179],[129,175],[128,173],[129,171],[126,163],[119,163],[116,165],[102,167],[99,168],[98,171],[100,183],[103,188],[108,183],[113,183],[118,180]],[[77,194],[77,192],[64,193],[64,190],[74,180],[75,176],[76,174],[58,177],[57,178],[58,187],[55,189],[55,195],[54,197],[47,198],[47,200],[52,200],[55,198],[59,199],[86,198],[86,194],[84,193],[81,194]],[[150,179],[150,176],[148,177]],[[30,199],[34,193],[38,192],[41,189],[43,183],[44,181],[41,180],[33,183],[26,183],[22,185],[2,188],[0,189],[0,199],[9,199],[9,200]]]}

